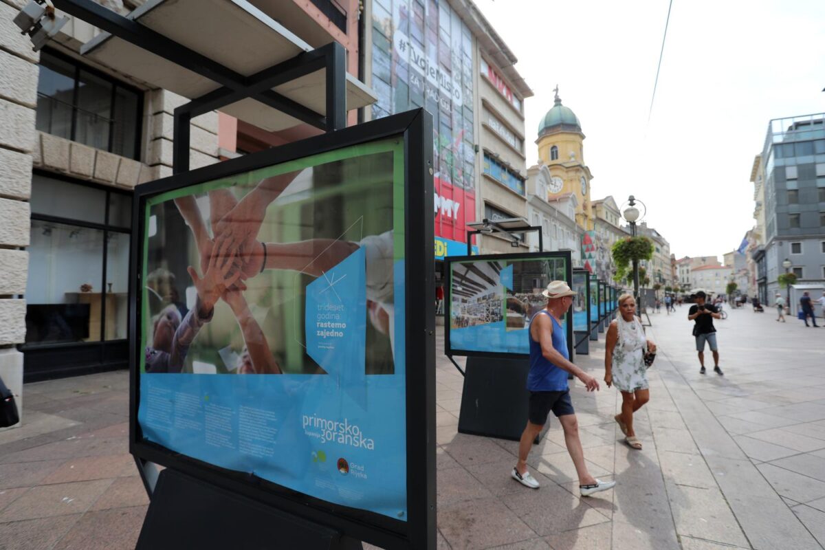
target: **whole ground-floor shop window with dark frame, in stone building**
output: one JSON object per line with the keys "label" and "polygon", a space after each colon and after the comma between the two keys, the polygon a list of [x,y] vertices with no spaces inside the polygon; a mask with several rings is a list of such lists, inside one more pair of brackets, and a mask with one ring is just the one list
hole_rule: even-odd
{"label": "whole ground-floor shop window with dark frame, in stone building", "polygon": [[129,336],[131,209],[124,192],[35,172],[27,347]]}

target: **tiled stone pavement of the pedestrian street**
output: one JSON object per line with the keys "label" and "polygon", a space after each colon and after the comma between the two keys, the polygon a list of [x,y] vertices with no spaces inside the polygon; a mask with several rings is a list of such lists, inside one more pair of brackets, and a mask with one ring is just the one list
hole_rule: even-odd
{"label": "tiled stone pavement of the pedestrian street", "polygon": [[[615,390],[573,389],[588,466],[618,482],[589,499],[556,422],[530,454],[539,491],[509,477],[515,442],[458,434],[462,378],[439,354],[439,548],[823,548],[825,331],[730,312],[726,375],[701,376],[686,313],[651,316],[642,451],[620,440]],[[577,362],[601,379],[603,339],[591,344]],[[0,432],[0,550],[134,548],[147,501],[126,386],[125,373],[26,385],[26,426]]]}

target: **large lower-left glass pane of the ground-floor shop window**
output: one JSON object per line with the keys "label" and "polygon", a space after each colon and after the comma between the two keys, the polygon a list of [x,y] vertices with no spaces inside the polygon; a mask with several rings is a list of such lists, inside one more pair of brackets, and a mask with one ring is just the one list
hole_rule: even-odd
{"label": "large lower-left glass pane of the ground-floor shop window", "polygon": [[26,343],[99,341],[103,232],[31,222]]}

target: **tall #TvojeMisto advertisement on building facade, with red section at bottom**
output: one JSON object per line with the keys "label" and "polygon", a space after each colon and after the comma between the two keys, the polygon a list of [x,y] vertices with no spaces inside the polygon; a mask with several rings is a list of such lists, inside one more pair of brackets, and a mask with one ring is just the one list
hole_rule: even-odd
{"label": "tall #TvojeMisto advertisement on building facade, with red section at bottom", "polygon": [[372,117],[433,118],[435,233],[466,242],[476,218],[473,38],[446,0],[374,0]]}

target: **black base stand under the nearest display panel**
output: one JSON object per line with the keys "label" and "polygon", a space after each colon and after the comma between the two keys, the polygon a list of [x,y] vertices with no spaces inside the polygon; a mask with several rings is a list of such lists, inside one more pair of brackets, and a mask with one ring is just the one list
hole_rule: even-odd
{"label": "black base stand under the nearest display panel", "polygon": [[135,548],[361,550],[362,546],[334,529],[167,468],[158,477]]}

